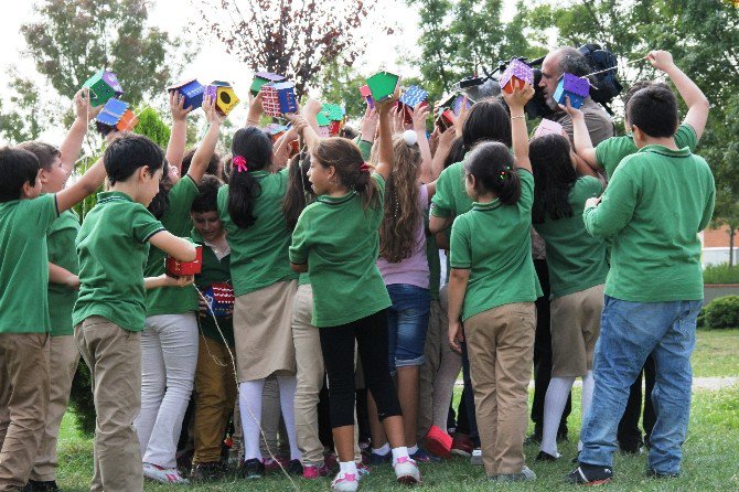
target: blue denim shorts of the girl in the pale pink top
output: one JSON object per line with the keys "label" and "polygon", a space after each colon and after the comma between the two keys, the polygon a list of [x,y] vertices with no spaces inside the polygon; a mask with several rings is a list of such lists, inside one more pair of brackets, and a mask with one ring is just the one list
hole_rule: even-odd
{"label": "blue denim shorts of the girl in the pale pink top", "polygon": [[424,346],[429,324],[431,297],[428,289],[407,284],[387,286],[390,306],[387,310],[388,364],[396,367],[424,365]]}

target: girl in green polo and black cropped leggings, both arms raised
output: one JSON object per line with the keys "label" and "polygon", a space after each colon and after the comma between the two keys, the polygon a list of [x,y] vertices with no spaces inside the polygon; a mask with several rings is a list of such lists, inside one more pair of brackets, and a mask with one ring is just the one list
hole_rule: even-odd
{"label": "girl in green polo and black cropped leggings, both arms raised", "polygon": [[385,180],[393,171],[390,105],[378,105],[379,163],[374,173],[353,142],[342,138],[320,140],[304,119],[294,119],[311,152],[308,175],[318,199],[298,220],[290,263],[294,271],[310,274],[313,287],[312,324],[319,328],[329,374],[331,427],[340,462],[332,483],[334,491],[358,488],[353,460],[355,343],[367,388],[393,448],[397,480],[420,482],[418,467],[405,446],[400,405],[387,365],[386,309],[390,300],[375,264]]}

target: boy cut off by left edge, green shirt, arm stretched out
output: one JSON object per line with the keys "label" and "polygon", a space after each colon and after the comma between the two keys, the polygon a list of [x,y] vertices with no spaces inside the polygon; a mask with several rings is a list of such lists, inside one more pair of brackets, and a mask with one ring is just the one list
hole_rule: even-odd
{"label": "boy cut off by left edge, green shirt, arm stretched out", "polygon": [[60,213],[93,193],[103,162],[75,184],[41,195],[41,167],[30,151],[0,148],[0,489],[23,488],[36,459],[49,406],[49,253]]}

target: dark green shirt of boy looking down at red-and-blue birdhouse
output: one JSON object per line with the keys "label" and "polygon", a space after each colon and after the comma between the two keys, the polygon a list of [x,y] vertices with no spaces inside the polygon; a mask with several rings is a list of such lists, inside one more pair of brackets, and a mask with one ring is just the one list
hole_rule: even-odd
{"label": "dark green shirt of boy looking down at red-and-blue birdhouse", "polygon": [[[218,259],[195,229],[192,231],[191,237],[195,243],[203,246],[203,268],[199,275],[195,275],[195,285],[200,291],[204,292],[213,284],[231,282],[231,255]],[[228,345],[234,346],[234,319],[225,317],[216,317],[215,319],[218,327],[215,325],[216,321],[213,320],[211,311],[207,311],[205,315],[197,317],[197,323],[203,335],[218,343],[223,343],[223,338],[225,338]],[[221,328],[223,338],[218,328]]]}

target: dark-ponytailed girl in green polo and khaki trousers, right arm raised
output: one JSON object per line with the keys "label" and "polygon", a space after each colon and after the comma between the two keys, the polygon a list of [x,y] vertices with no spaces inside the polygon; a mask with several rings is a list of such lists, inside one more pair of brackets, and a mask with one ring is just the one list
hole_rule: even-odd
{"label": "dark-ponytailed girl in green polo and khaki trousers, right arm raised", "polygon": [[451,233],[449,343],[459,351],[462,336],[467,342],[482,460],[497,481],[536,478],[523,450],[534,301],[542,296],[532,260],[534,177],[524,121],[533,95],[528,84],[504,94],[514,156],[500,142],[478,143],[465,156],[464,185],[474,202]]}

